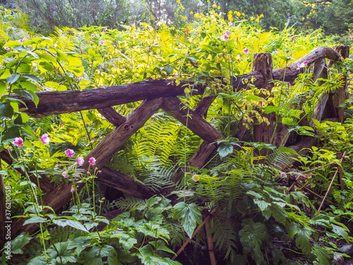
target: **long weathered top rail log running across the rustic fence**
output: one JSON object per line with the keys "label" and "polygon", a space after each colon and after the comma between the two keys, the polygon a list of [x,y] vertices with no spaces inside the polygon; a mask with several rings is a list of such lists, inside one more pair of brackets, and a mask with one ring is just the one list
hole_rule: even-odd
{"label": "long weathered top rail log running across the rustic fence", "polygon": [[[318,59],[323,58],[335,61],[340,59],[340,54],[329,47],[318,47],[293,64],[273,71],[273,79],[292,82],[297,78],[300,71],[304,71],[304,69],[297,70],[298,63],[309,61],[310,66]],[[266,79],[263,78],[261,71],[253,71],[242,76],[234,76],[234,90],[247,88],[249,83],[245,83],[244,79],[250,81],[252,77],[256,78],[253,85],[258,88],[263,88]],[[184,95],[184,85],[186,84],[192,84],[192,82],[181,81],[179,86],[177,86],[174,83],[174,79],[167,79],[109,86],[106,89],[94,88],[87,90],[40,92],[37,93],[40,100],[37,107],[35,107],[35,104],[31,100],[21,98],[17,95],[11,95],[11,97],[23,100],[28,107],[26,113],[30,116],[45,117],[80,110],[101,109],[149,98],[166,98]],[[203,86],[196,86],[193,90],[193,95],[202,95],[204,88]]]}

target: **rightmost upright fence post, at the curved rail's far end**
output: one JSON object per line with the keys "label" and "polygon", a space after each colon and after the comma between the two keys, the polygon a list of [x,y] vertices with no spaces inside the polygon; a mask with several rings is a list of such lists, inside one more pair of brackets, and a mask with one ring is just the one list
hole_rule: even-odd
{"label": "rightmost upright fence post, at the curved rail's far end", "polygon": [[[333,49],[338,52],[343,59],[349,57],[349,46],[339,45],[333,47]],[[328,68],[333,65],[332,61],[328,62]],[[337,88],[335,93],[330,93],[327,105],[325,107],[326,116],[328,118],[336,118],[338,117],[338,122],[343,122],[343,112],[345,110],[344,107],[338,107],[340,104],[345,103],[347,99],[346,89],[347,89],[347,76],[342,76],[343,85],[340,88]]]}

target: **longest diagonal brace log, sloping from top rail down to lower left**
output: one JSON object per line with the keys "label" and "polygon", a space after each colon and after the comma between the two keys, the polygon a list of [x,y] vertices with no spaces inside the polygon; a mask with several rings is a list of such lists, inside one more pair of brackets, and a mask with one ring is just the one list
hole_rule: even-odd
{"label": "longest diagonal brace log, sloping from top rail down to lower left", "polygon": [[[124,145],[124,143],[140,129],[143,124],[160,109],[162,105],[162,98],[155,98],[152,100],[145,100],[128,115],[126,122],[121,126],[113,129],[107,136],[100,141],[100,143],[93,148],[93,150],[86,156],[85,163],[82,168],[85,171],[90,170],[95,172],[95,168],[100,170],[105,163],[112,157],[112,155]],[[89,158],[97,158],[96,164],[90,167]],[[79,191],[84,187],[84,183],[76,182],[76,189]],[[126,187],[129,189],[131,187]],[[133,188],[132,188],[133,189]],[[51,192],[43,196],[44,205],[51,206],[54,211],[58,211],[66,202],[71,199],[71,184],[59,184]],[[46,213],[48,211],[45,211]],[[23,227],[25,218],[18,218],[13,222],[13,235],[16,237],[20,232],[28,232],[32,234],[37,230],[36,224],[29,224]]]}

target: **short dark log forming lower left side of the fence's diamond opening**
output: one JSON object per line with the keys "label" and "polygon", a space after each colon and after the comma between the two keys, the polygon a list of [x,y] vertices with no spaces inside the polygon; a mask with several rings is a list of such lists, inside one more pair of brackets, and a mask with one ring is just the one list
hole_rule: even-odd
{"label": "short dark log forming lower left side of the fence's diamond opening", "polygon": [[119,189],[122,192],[140,199],[148,199],[155,195],[150,187],[135,182],[131,177],[123,173],[111,170],[109,167],[102,167],[101,171],[102,172],[99,172],[97,175],[97,181],[113,187],[114,189]]}

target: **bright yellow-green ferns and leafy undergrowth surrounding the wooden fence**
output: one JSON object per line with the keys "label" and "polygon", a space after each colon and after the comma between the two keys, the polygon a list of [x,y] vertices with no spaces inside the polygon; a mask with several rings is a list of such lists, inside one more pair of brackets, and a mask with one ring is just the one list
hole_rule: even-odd
{"label": "bright yellow-green ferns and leafy undergrowth surrounding the wooden fence", "polygon": [[[251,71],[256,52],[272,53],[277,69],[314,47],[333,45],[319,32],[296,34],[288,25],[280,32],[265,32],[259,25],[262,16],[246,19],[238,13],[229,11],[224,18],[215,6],[206,15],[193,14],[193,23],[181,15],[171,23],[131,23],[119,30],[100,25],[57,28],[43,37],[18,27],[21,21],[25,24],[23,14],[1,9],[1,151],[9,151],[15,161],[3,163],[1,173],[11,189],[12,216],[24,211],[25,224],[37,223],[40,228],[35,235],[22,234],[11,242],[13,255],[27,254],[22,264],[196,264],[207,254],[203,230],[191,241],[189,254],[181,254],[179,261],[171,257],[201,224],[201,210],[215,208],[210,228],[223,264],[295,264],[296,260],[329,264],[337,251],[335,240],[352,242],[345,225],[353,215],[349,111],[343,124],[313,120],[318,147],[311,148],[309,156],[299,155],[297,168],[286,172],[278,167],[292,163],[295,151],[253,143],[251,133],[255,124],[268,122],[264,112],[275,112],[275,126],[286,124],[296,138],[314,136],[311,127],[299,125],[301,113],[311,121],[316,102],[340,85],[340,74],[350,70],[349,61],[343,72],[342,65],[330,69],[321,83],[313,82],[305,68],[295,84],[275,82],[265,98],[259,95],[266,92],[252,86],[251,80],[245,81],[249,89],[235,93],[231,77]],[[201,139],[170,114],[153,115],[109,162],[109,167],[157,194],[172,190],[145,200],[128,194],[114,201],[104,199],[104,186],[94,181],[97,172],[80,170],[81,159],[113,129],[97,110],[34,119],[11,96],[37,104],[39,91],[104,89],[161,78],[202,84],[206,86],[203,96],[217,95],[207,120],[227,138],[218,141],[222,145],[203,168],[191,168],[174,183],[172,176],[179,168],[186,170],[186,161]],[[201,100],[193,95],[193,85],[186,86],[185,92],[181,100],[188,107]],[[114,108],[126,116],[138,105]],[[232,136],[242,124],[249,131],[244,141],[237,141]],[[243,148],[235,150],[232,144]],[[258,156],[262,149],[268,154]],[[338,151],[346,151],[348,158],[342,163],[346,189],[334,185],[328,196],[336,206],[319,213],[321,200],[301,189],[287,194],[287,187],[279,185],[289,176],[301,175],[306,186],[323,196],[337,164],[341,165],[335,157]],[[332,162],[332,167],[319,167]],[[95,160],[90,163],[94,166]],[[311,169],[311,174],[301,173]],[[73,199],[63,211],[43,213],[43,193],[29,180],[30,174],[40,173],[56,184],[72,185]],[[81,192],[75,189],[75,180],[85,182]],[[124,213],[107,220],[104,215],[113,208]],[[5,253],[1,261],[6,261]]]}

